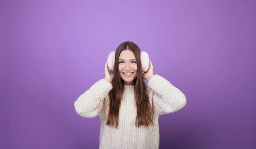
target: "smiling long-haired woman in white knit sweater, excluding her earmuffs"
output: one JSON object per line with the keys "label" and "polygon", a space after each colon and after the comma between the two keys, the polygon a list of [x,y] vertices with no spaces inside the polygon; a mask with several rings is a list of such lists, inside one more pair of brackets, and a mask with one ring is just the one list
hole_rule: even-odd
{"label": "smiling long-haired woman in white knit sweater, excluding her earmuffs", "polygon": [[74,103],[77,114],[84,118],[99,115],[99,149],[159,149],[159,115],[186,105],[179,89],[154,75],[150,60],[148,71],[142,72],[140,53],[133,42],[120,44],[113,72],[106,62],[105,78]]}

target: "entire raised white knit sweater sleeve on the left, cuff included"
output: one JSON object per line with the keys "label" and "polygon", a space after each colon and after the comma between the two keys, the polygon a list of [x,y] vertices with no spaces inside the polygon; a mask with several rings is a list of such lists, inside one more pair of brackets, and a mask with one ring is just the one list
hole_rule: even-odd
{"label": "entire raised white knit sweater sleeve on the left, cuff included", "polygon": [[84,118],[96,117],[102,110],[103,99],[112,89],[112,84],[100,79],[75,101],[76,113]]}

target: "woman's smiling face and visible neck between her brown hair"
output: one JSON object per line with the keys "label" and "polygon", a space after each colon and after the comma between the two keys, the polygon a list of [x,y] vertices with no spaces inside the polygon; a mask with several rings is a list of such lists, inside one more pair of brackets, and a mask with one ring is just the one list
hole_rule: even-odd
{"label": "woman's smiling face and visible neck between her brown hair", "polygon": [[131,50],[123,50],[120,53],[118,69],[124,85],[134,84],[134,79],[137,77],[137,62]]}

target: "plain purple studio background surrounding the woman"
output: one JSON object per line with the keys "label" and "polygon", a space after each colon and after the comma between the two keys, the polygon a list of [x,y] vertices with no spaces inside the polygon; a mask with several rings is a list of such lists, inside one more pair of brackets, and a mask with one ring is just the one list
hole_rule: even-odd
{"label": "plain purple studio background surrounding the woman", "polygon": [[126,41],[185,93],[161,149],[256,148],[254,0],[2,0],[0,148],[97,149],[99,117],[74,101]]}

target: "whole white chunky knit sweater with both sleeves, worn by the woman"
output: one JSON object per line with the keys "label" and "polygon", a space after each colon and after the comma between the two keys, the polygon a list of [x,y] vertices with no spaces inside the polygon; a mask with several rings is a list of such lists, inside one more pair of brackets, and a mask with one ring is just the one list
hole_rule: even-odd
{"label": "whole white chunky knit sweater with both sleeves, worn by the woman", "polygon": [[[149,129],[138,128],[135,127],[137,111],[134,85],[124,85],[124,100],[121,101],[119,126],[116,129],[106,125],[109,110],[108,92],[111,89],[111,83],[100,79],[74,103],[77,114],[84,118],[99,115],[99,149],[159,149],[158,117],[182,109],[186,105],[185,95],[163,77],[154,75],[148,81],[147,87],[150,103],[152,104],[153,99],[155,107],[154,126],[150,125]],[[102,110],[103,106],[107,108]]]}

